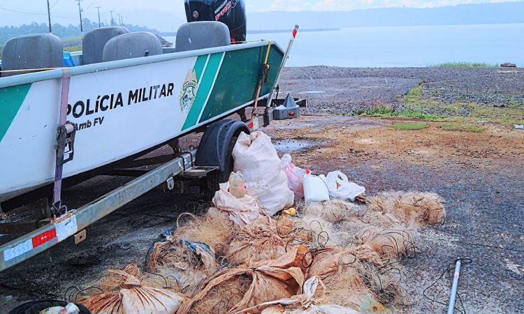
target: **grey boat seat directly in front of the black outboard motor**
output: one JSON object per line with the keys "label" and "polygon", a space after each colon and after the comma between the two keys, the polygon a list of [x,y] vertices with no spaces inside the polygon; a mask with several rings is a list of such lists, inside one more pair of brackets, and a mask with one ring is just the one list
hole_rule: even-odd
{"label": "grey boat seat directly in front of the black outboard motor", "polygon": [[231,34],[222,22],[191,22],[177,31],[176,52],[231,45]]}

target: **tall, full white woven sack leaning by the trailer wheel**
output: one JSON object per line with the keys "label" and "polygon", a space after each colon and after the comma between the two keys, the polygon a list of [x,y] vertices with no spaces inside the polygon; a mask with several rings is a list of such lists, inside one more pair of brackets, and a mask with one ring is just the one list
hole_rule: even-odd
{"label": "tall, full white woven sack leaning by the trailer wheel", "polygon": [[247,194],[259,201],[264,214],[273,216],[293,206],[295,195],[287,186],[287,176],[268,135],[258,131],[251,135],[240,133],[233,158],[235,172],[244,174]]}

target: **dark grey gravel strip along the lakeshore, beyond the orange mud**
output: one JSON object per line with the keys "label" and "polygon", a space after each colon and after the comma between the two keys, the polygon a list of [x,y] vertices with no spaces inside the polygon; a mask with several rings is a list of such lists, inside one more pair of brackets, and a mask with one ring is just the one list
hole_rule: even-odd
{"label": "dark grey gravel strip along the lakeshore, beyond the orange mud", "polygon": [[286,68],[282,94],[307,98],[307,114],[341,114],[402,105],[398,98],[423,83],[421,98],[444,104],[521,105],[524,68]]}

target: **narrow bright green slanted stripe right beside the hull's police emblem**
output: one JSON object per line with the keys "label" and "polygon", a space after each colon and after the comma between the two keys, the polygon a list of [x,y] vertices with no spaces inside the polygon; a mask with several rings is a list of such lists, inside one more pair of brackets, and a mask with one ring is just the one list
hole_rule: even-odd
{"label": "narrow bright green slanted stripe right beside the hull's police emblem", "polygon": [[[205,71],[203,75],[201,75],[202,79],[198,80],[199,84],[198,91],[196,91],[195,101],[191,106],[191,109],[189,110],[189,114],[187,116],[186,122],[184,123],[184,127],[182,128],[182,130],[187,130],[188,128],[196,126],[198,117],[200,117],[202,108],[204,107],[206,100],[208,100],[208,96],[213,87],[214,79],[215,77],[217,77],[217,72],[219,71],[220,63],[222,61],[223,56],[224,52],[210,55],[208,66],[205,67]],[[208,56],[198,57],[198,59],[196,60],[195,67],[202,63],[201,58],[205,58],[205,64],[205,61],[207,61]],[[198,78],[198,69],[195,70]]]}

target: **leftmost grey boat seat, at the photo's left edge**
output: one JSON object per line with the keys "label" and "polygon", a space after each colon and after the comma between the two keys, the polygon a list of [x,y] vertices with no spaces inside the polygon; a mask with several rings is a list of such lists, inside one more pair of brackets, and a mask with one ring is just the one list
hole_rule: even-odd
{"label": "leftmost grey boat seat, at the photo's left edge", "polygon": [[[15,37],[6,43],[2,53],[2,70],[61,68],[64,52],[60,38],[50,33]],[[35,71],[4,72],[2,77]]]}

